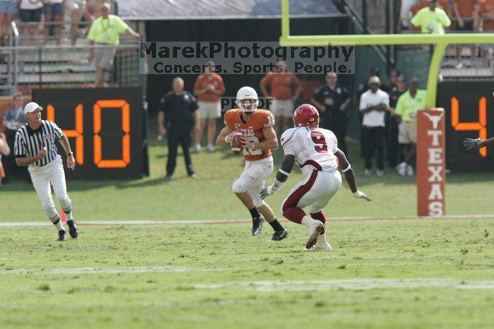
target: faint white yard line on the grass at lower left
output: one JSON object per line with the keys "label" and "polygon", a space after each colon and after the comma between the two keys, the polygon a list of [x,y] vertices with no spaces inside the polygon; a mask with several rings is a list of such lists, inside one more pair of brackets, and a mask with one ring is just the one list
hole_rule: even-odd
{"label": "faint white yard line on the grass at lower left", "polygon": [[56,268],[53,270],[0,270],[1,274],[114,274],[114,273],[186,273],[186,272],[211,272],[221,271],[222,269],[208,268],[174,268],[170,266],[132,266],[118,268]]}

